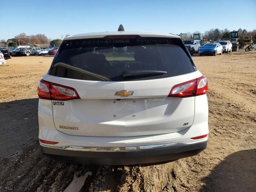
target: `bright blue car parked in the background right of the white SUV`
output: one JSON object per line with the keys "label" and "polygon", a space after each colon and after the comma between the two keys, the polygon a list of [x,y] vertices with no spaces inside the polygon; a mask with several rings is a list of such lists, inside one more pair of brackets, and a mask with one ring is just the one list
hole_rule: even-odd
{"label": "bright blue car parked in the background right of the white SUV", "polygon": [[220,43],[206,43],[199,49],[199,55],[214,55],[222,54],[223,47]]}

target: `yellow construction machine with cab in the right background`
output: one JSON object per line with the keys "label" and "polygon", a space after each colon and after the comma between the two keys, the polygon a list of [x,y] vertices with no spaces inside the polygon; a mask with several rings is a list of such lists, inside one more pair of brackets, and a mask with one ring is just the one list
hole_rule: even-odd
{"label": "yellow construction machine with cab in the right background", "polygon": [[253,40],[252,40],[252,36],[244,34],[244,31],[232,31],[229,34],[229,40],[233,45],[234,44],[238,44],[239,48],[244,48],[244,46],[252,44]]}

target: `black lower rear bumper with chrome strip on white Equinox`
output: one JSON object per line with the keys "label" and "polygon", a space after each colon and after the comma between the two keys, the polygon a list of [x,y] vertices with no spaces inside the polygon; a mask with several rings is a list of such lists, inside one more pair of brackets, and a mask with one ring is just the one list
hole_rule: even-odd
{"label": "black lower rear bumper with chrome strip on white Equinox", "polygon": [[134,147],[46,146],[40,144],[42,153],[50,159],[81,164],[130,165],[166,162],[202,152],[208,138],[198,142],[177,142],[169,144]]}

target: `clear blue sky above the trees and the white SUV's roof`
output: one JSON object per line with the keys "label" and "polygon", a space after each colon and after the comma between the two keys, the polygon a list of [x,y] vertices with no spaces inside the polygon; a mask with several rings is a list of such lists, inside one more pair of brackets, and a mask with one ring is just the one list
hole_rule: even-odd
{"label": "clear blue sky above the trees and the white SUV's roof", "polygon": [[[211,28],[247,31],[256,28],[248,8],[256,0],[0,0],[0,39],[45,34],[62,38],[66,34],[116,31],[150,31],[180,34],[205,32]],[[242,10],[242,12],[241,12]],[[243,11],[244,10],[244,11]]]}

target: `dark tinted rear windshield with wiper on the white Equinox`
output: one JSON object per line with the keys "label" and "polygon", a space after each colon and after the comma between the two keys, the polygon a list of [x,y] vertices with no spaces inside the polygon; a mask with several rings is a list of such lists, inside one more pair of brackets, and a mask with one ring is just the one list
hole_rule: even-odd
{"label": "dark tinted rear windshield with wiper on the white Equinox", "polygon": [[48,73],[80,80],[131,81],[195,70],[178,38],[94,38],[64,40]]}

